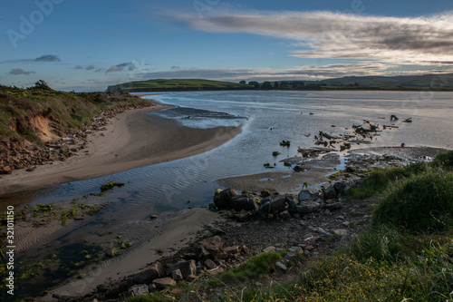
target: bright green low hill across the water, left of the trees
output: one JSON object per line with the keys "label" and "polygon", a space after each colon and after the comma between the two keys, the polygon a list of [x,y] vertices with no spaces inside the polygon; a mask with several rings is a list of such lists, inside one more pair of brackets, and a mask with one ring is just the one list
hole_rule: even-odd
{"label": "bright green low hill across the water, left of the trees", "polygon": [[175,79],[175,80],[149,80],[130,83],[120,83],[109,86],[107,91],[140,92],[178,92],[178,91],[206,91],[206,90],[246,90],[248,85],[222,81]]}

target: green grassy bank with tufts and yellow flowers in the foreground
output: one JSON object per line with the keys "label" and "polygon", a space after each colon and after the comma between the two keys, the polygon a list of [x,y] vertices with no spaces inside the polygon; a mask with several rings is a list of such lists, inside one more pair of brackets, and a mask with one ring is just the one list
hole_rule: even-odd
{"label": "green grassy bank with tufts and yellow flowers in the foreground", "polygon": [[[451,301],[453,151],[430,163],[375,170],[353,194],[371,192],[378,201],[370,226],[329,256],[300,257],[289,264],[299,271],[292,281],[273,273],[273,263],[283,255],[264,253],[206,282],[187,285],[178,300]],[[127,301],[158,297],[172,299],[160,293]]]}

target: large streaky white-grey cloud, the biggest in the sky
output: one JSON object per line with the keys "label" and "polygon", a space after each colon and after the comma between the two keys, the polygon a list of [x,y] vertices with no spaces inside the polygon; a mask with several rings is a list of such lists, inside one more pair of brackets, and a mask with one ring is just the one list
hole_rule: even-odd
{"label": "large streaky white-grey cloud, the biggest in the sky", "polygon": [[174,15],[211,33],[246,33],[293,40],[303,58],[377,60],[386,63],[453,61],[453,13],[386,17],[331,12]]}

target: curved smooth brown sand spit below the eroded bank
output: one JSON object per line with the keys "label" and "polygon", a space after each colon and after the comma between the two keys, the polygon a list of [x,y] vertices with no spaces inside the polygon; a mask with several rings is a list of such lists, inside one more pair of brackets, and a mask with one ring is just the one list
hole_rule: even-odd
{"label": "curved smooth brown sand spit below the eroded bank", "polygon": [[178,160],[217,148],[242,132],[238,127],[193,129],[147,115],[169,107],[158,104],[112,117],[105,131],[90,134],[88,146],[67,161],[39,166],[32,172],[16,170],[2,177],[0,195]]}

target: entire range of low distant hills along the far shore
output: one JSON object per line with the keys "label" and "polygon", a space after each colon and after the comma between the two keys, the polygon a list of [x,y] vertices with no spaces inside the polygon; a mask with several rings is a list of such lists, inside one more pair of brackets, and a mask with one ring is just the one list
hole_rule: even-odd
{"label": "entire range of low distant hills along the far shore", "polygon": [[322,81],[275,81],[231,83],[198,79],[149,80],[120,83],[107,91],[178,92],[217,90],[395,90],[453,91],[453,73],[403,76],[346,76]]}

